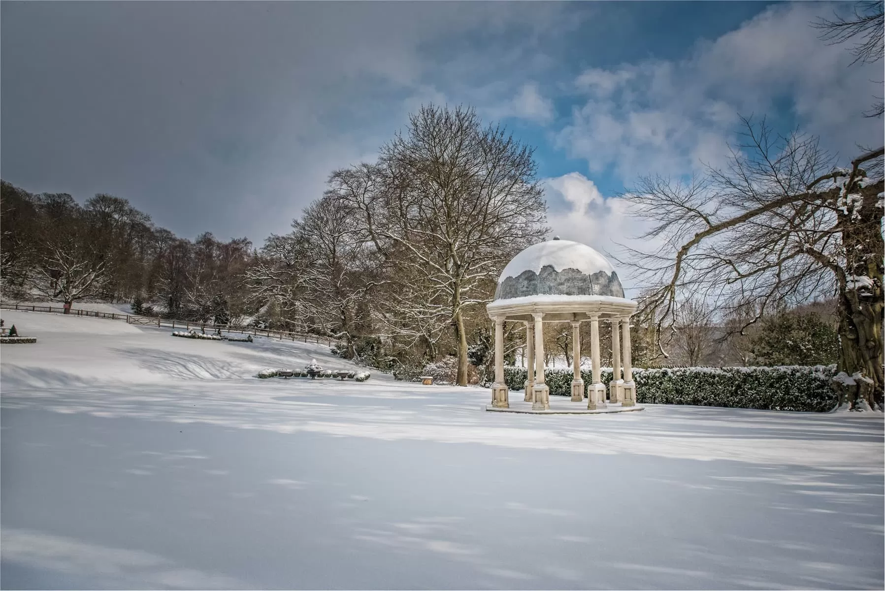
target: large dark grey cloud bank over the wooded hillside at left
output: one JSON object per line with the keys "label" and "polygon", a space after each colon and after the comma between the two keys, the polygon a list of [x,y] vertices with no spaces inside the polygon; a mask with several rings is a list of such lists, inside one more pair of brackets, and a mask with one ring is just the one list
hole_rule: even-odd
{"label": "large dark grey cloud bank over the wooded hillside at left", "polygon": [[404,122],[453,34],[540,30],[504,3],[4,3],[4,180],[127,197],[193,236],[284,231]]}

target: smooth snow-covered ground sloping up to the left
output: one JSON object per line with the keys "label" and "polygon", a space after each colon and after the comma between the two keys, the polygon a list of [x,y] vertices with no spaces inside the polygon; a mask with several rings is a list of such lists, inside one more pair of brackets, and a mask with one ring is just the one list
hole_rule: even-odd
{"label": "smooth snow-covered ground sloping up to the left", "polygon": [[[327,348],[3,311],[4,588],[882,588],[882,420],[257,380]],[[521,394],[516,394],[521,395]]]}

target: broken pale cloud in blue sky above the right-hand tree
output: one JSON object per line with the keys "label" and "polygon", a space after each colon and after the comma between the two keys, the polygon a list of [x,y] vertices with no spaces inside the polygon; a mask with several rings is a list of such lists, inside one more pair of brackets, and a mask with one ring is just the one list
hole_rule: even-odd
{"label": "broken pale cloud in blue sky above the right-hand tree", "polygon": [[[809,23],[827,4],[777,5],[681,61],[591,68],[573,82],[587,101],[557,138],[592,173],[611,169],[627,185],[644,173],[679,175],[722,165],[737,115],[781,116],[851,157],[857,143],[881,145],[881,123],[862,117],[881,95],[881,65],[849,67]],[[784,121],[775,121],[775,124]],[[789,125],[789,123],[788,123]]]}

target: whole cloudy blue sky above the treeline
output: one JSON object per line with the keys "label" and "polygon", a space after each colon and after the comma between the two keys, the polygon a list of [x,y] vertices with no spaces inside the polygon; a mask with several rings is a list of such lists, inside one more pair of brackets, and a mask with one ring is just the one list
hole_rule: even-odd
{"label": "whole cloudy blue sky above the treeline", "polygon": [[536,147],[553,233],[610,250],[641,230],[617,193],[720,164],[739,113],[881,145],[881,64],[809,27],[849,7],[4,2],[0,173],[260,245],[420,104],[471,104]]}

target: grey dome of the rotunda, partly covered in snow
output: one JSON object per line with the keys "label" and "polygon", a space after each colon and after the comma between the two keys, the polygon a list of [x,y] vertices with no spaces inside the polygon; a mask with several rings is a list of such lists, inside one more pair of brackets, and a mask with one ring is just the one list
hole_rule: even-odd
{"label": "grey dome of the rotunda, partly covered in snow", "polygon": [[533,244],[504,267],[496,300],[527,295],[610,295],[624,297],[618,273],[599,252],[581,242]]}

